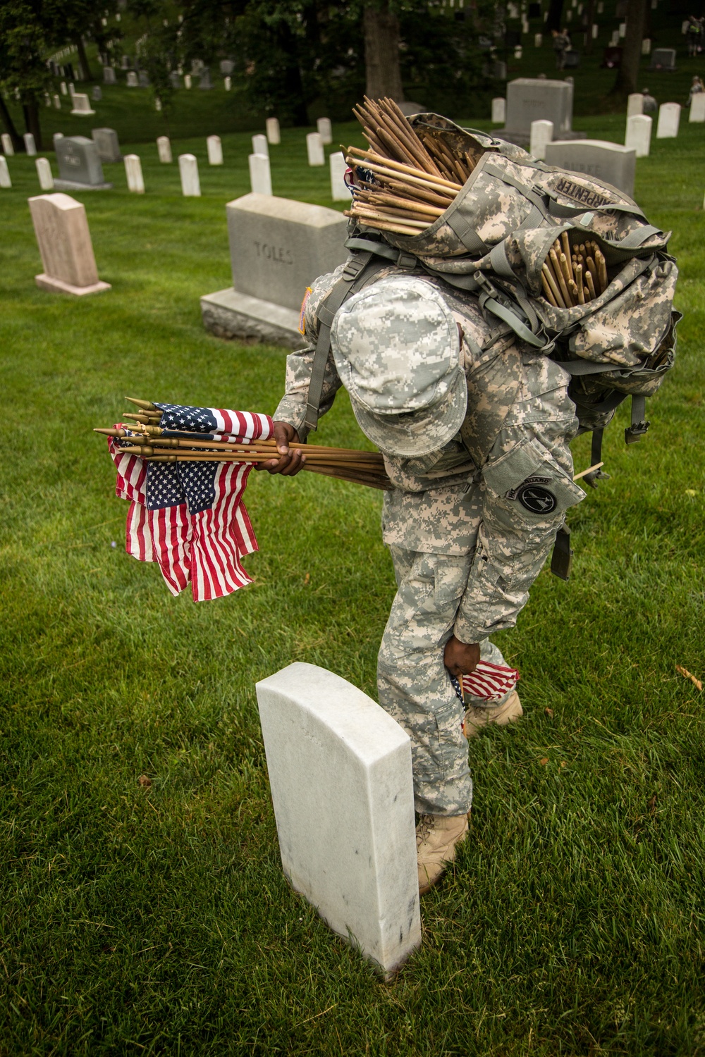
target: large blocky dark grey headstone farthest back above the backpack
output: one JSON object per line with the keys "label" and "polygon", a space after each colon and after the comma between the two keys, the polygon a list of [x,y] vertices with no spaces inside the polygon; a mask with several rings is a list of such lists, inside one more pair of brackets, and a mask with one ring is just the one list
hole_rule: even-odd
{"label": "large blocky dark grey headstone farthest back above the backpack", "polygon": [[506,126],[493,134],[527,147],[532,122],[553,123],[554,140],[581,140],[573,132],[573,85],[568,80],[519,77],[506,86]]}

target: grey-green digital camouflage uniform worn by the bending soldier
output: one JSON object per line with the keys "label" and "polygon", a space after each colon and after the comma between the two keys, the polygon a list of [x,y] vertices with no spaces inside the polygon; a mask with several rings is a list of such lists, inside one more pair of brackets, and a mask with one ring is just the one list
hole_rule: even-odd
{"label": "grey-green digital camouflage uniform worn by the bending soldier", "polygon": [[[392,271],[377,273],[375,282]],[[314,283],[304,314],[312,344],[286,360],[286,392],[275,418],[302,438],[316,309],[340,273]],[[461,815],[470,808],[472,785],[463,706],[443,650],[454,634],[480,643],[484,660],[503,663],[488,638],[514,627],[567,508],[583,497],[572,481],[568,448],[578,424],[561,367],[522,346],[503,324],[490,331],[474,296],[419,277],[442,294],[462,328],[467,410],[458,433],[437,450],[418,458],[385,455],[395,487],[385,493],[383,538],[397,593],[377,680],[379,704],[411,738],[416,810]],[[335,323],[335,346],[334,331]],[[321,413],[341,385],[331,351]]]}

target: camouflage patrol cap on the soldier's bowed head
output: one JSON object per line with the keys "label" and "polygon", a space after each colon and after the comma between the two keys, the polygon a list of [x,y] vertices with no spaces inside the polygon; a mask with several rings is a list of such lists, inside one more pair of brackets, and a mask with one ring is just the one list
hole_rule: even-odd
{"label": "camouflage patrol cap on the soldier's bowed head", "polygon": [[337,312],[331,347],[359,427],[382,451],[429,455],[460,429],[458,326],[430,283],[388,276],[360,290]]}

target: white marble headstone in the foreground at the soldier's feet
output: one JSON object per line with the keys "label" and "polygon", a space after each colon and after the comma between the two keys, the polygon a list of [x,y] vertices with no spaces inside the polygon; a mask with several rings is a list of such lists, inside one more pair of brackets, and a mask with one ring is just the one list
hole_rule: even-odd
{"label": "white marble headstone in the foreground at the soldier's feet", "polygon": [[262,680],[257,700],[284,874],[390,973],[421,944],[408,735],[316,665]]}

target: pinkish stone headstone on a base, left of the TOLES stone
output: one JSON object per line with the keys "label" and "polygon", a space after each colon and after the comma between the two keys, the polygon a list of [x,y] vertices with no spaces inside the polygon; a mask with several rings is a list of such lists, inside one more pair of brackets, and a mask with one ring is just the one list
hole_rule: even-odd
{"label": "pinkish stone headstone on a base, left of the TOLES stone", "polygon": [[30,199],[30,211],[44,268],[35,277],[40,290],[79,296],[110,290],[98,279],[82,203],[69,194],[39,194]]}

